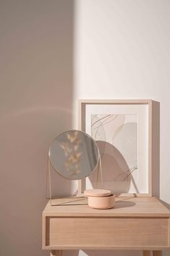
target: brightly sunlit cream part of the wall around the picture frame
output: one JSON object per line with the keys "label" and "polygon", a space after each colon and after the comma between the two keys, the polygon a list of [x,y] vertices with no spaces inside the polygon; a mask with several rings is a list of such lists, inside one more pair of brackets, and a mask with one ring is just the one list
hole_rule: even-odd
{"label": "brightly sunlit cream part of the wall around the picture frame", "polygon": [[[77,0],[75,12],[75,99],[160,102],[160,196],[167,204],[170,204],[169,14],[169,0]],[[137,256],[140,252],[85,252],[85,255]]]}

